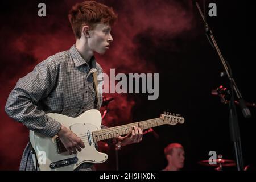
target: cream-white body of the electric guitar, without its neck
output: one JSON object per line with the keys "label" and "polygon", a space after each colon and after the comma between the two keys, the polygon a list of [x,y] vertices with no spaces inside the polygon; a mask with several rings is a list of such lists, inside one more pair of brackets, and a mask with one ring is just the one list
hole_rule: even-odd
{"label": "cream-white body of the electric guitar, without its neck", "polygon": [[[51,138],[30,130],[30,142],[38,158],[39,170],[72,171],[82,163],[102,163],[108,159],[108,155],[96,150],[96,142],[92,138],[92,131],[101,130],[100,111],[88,110],[76,118],[55,113],[47,115],[80,137],[85,148],[82,148],[82,151],[77,152],[77,154],[69,155],[68,151],[58,151],[57,135]],[[36,165],[35,155],[32,156]]]}

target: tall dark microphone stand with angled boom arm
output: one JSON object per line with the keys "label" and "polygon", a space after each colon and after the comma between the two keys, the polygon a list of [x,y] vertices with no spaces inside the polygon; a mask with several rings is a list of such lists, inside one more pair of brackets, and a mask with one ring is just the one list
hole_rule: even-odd
{"label": "tall dark microphone stand with angled boom arm", "polygon": [[[245,101],[243,100],[242,94],[237,88],[236,82],[234,81],[232,77],[232,70],[228,64],[228,62],[224,59],[224,57],[221,54],[220,49],[218,48],[218,45],[216,43],[216,40],[214,39],[212,30],[210,30],[210,27],[208,26],[207,20],[205,19],[205,16],[203,15],[199,3],[197,1],[194,1],[193,3],[196,4],[197,9],[199,10],[199,13],[201,17],[203,18],[203,21],[205,23],[205,33],[207,34],[207,38],[210,41],[210,44],[213,44],[214,49],[218,53],[218,56],[220,57],[221,63],[225,68],[225,73],[229,78],[230,82],[230,90],[231,90],[231,99],[229,102],[229,127],[230,127],[230,138],[233,142],[234,147],[234,153],[236,155],[236,163],[237,163],[237,169],[238,171],[243,171],[243,157],[242,157],[242,146],[241,146],[241,138],[240,138],[240,129],[238,126],[238,118],[237,118],[237,111],[236,106],[234,102],[234,93],[236,93],[236,96],[239,100],[240,107],[243,113],[243,117],[250,118],[251,113],[250,110],[247,108]],[[210,37],[210,39],[209,39]]]}

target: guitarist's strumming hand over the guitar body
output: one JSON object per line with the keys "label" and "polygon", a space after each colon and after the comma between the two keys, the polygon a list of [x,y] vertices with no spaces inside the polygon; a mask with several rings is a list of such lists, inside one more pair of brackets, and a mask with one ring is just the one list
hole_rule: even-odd
{"label": "guitarist's strumming hand over the guitar body", "polygon": [[81,138],[77,137],[75,133],[73,133],[71,130],[67,129],[67,127],[63,125],[61,126],[61,129],[59,130],[57,135],[59,136],[65,148],[68,150],[69,155],[71,155],[72,153],[76,154],[77,151],[81,152],[81,148],[85,148],[84,142],[82,142]]}

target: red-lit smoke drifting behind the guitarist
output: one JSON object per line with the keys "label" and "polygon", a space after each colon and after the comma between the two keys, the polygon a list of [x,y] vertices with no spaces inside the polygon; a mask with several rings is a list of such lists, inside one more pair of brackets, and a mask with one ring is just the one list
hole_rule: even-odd
{"label": "red-lit smoke drifting behind the guitarist", "polygon": [[[47,17],[37,16],[37,5],[22,2],[22,10],[11,10],[1,29],[1,115],[0,131],[0,169],[18,169],[20,158],[28,141],[28,130],[10,119],[4,112],[5,103],[16,81],[40,61],[57,52],[69,49],[75,38],[68,22],[67,14],[76,1],[65,3],[46,2]],[[139,46],[147,48],[161,47],[165,37],[174,38],[193,27],[191,5],[180,1],[100,1],[112,6],[118,13],[118,22],[112,28],[114,42],[105,55],[96,55],[104,72],[122,73],[158,73],[152,62],[145,60]],[[54,8],[53,8],[54,7]],[[16,19],[16,17],[21,17]],[[18,21],[13,27],[11,21]],[[138,43],[139,36],[150,37],[152,44]],[[167,43],[164,43],[167,44]],[[164,63],[160,63],[163,64]],[[131,109],[136,102],[128,94],[106,94],[113,97],[110,112],[104,119],[108,126],[133,122]]]}

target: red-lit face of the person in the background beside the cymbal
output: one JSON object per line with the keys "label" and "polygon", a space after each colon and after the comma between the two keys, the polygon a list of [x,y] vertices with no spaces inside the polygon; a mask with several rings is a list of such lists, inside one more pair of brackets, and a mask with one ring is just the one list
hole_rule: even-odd
{"label": "red-lit face of the person in the background beside the cymbal", "polygon": [[175,166],[177,169],[181,169],[184,166],[185,152],[183,148],[173,148],[172,154],[170,155],[169,162],[172,166]]}

